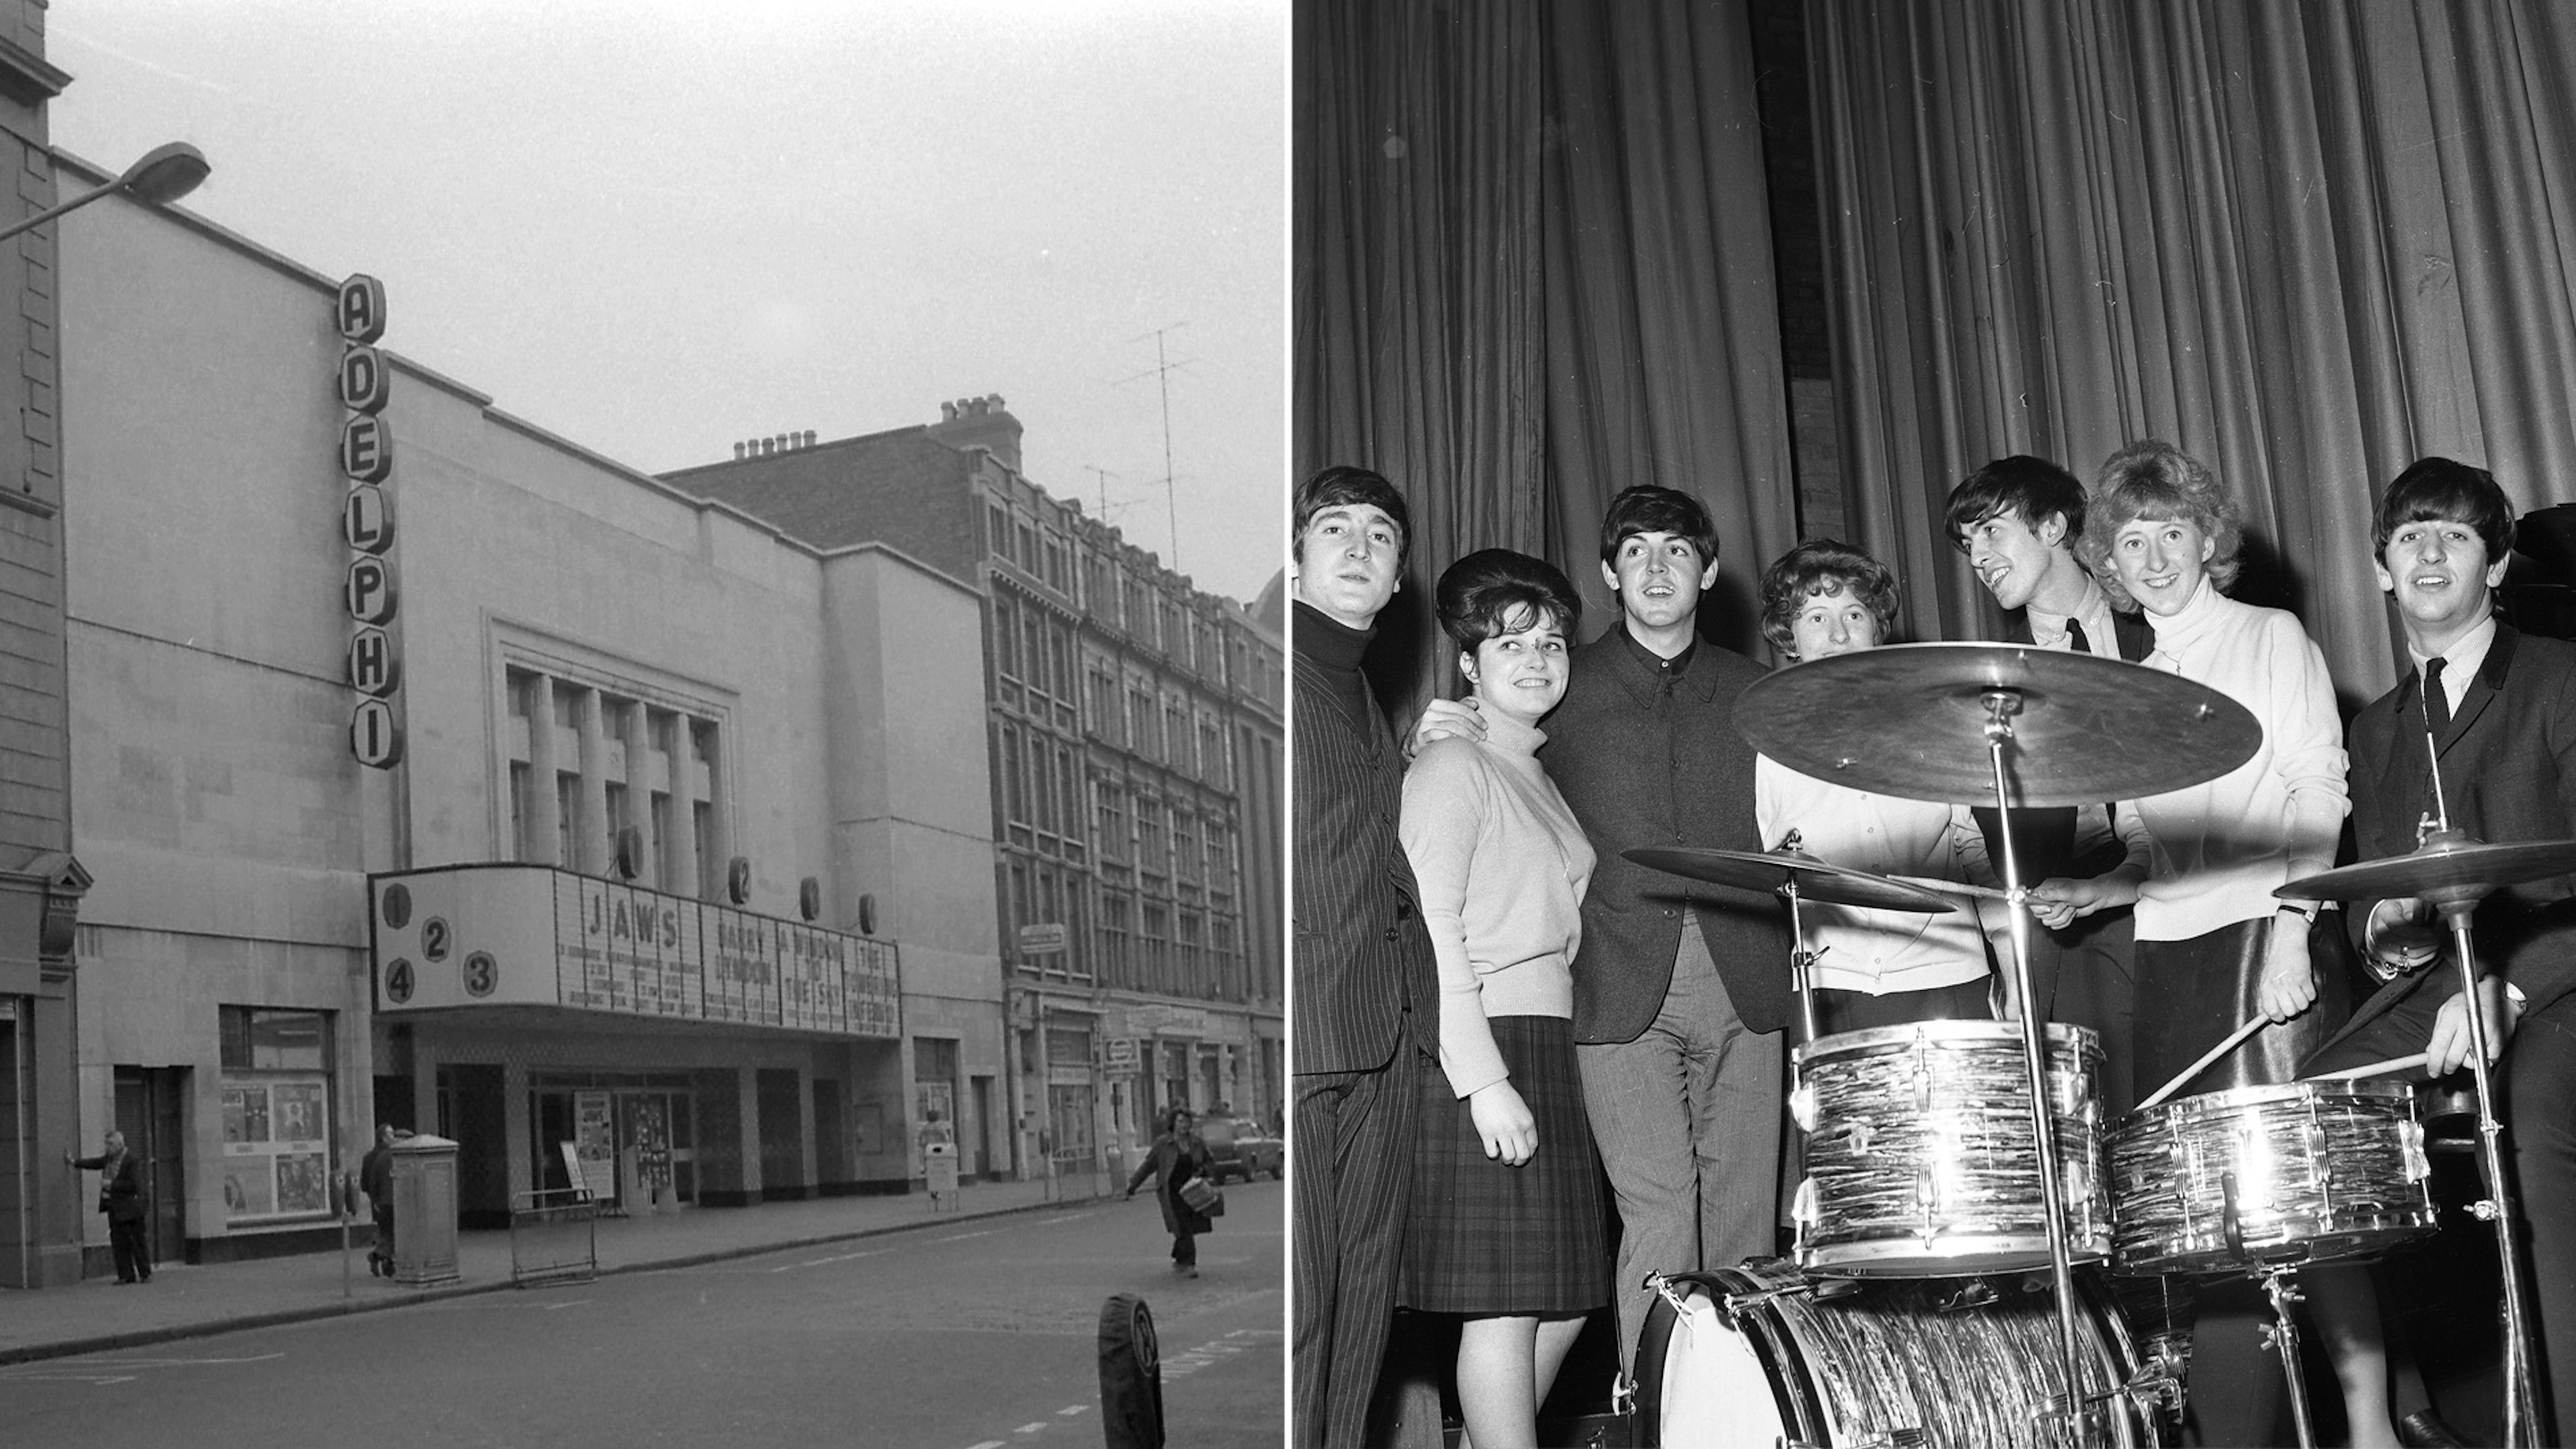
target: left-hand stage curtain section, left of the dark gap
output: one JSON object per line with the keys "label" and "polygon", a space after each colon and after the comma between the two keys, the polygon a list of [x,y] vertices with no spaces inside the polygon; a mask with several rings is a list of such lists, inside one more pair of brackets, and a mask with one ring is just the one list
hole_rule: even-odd
{"label": "left-hand stage curtain section, left of the dark gap", "polygon": [[1795,521],[1744,0],[1311,0],[1293,93],[1296,472],[1414,508],[1391,694],[1450,683],[1430,585],[1473,549],[1564,567],[1597,634],[1631,482],[1708,503],[1747,647]]}

